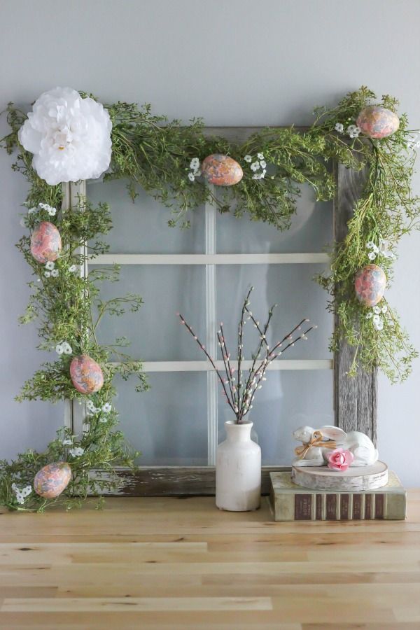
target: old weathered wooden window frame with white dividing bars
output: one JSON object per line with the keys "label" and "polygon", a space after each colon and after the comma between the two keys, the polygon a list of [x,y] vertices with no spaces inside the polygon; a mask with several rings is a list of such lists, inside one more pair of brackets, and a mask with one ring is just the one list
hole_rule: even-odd
{"label": "old weathered wooden window frame with white dividing bars", "polygon": [[[218,134],[230,140],[244,141],[260,127],[207,127],[207,134]],[[304,127],[298,128],[304,131]],[[360,197],[365,172],[355,172],[343,165],[334,164],[336,195],[333,202],[333,222],[335,241],[344,239],[347,222],[353,207]],[[73,207],[79,195],[86,195],[85,181],[65,183],[63,186],[63,207]],[[216,265],[235,264],[290,264],[328,262],[326,253],[262,253],[262,254],[218,254],[216,253],[216,207],[208,202],[206,213],[206,248],[203,254],[118,254],[100,255],[94,264],[111,265],[205,265],[206,268],[206,344],[210,353],[216,356]],[[87,273],[87,265],[82,269]],[[355,378],[349,378],[353,349],[343,343],[333,360],[281,360],[270,366],[273,370],[334,370],[334,412],[335,424],[345,431],[362,430],[376,442],[377,421],[377,372],[367,374],[359,370]],[[222,363],[219,361],[218,363]],[[327,365],[328,364],[328,365]],[[246,365],[244,365],[246,367]],[[207,372],[207,466],[145,466],[135,472],[118,469],[122,479],[119,495],[122,496],[182,496],[211,495],[215,492],[215,462],[217,447],[217,379],[208,361],[153,361],[144,363],[145,372]],[[71,401],[65,402],[64,423],[78,434],[85,421],[85,407]],[[289,470],[284,466],[264,466],[262,468],[262,492],[268,493],[269,472]]]}

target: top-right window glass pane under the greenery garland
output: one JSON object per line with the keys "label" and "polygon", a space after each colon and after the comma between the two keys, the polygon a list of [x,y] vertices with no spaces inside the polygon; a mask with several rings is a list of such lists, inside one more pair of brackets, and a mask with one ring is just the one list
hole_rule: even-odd
{"label": "top-right window glass pane under the greenery garland", "polygon": [[301,253],[321,252],[332,242],[332,202],[315,202],[314,193],[302,186],[297,212],[290,230],[279,232],[274,225],[218,214],[217,253]]}

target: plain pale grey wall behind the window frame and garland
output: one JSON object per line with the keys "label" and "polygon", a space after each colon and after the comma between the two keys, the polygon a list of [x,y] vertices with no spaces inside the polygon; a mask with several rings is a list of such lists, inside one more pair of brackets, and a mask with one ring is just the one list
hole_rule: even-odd
{"label": "plain pale grey wall behind the window frame and garland", "polygon": [[[307,124],[314,105],[365,84],[399,97],[420,127],[416,0],[2,0],[0,21],[1,106],[69,85],[209,125]],[[42,448],[62,408],[13,402],[40,353],[34,328],[16,323],[27,301],[27,268],[13,247],[25,183],[5,153],[0,177],[0,456],[9,457]],[[389,292],[418,348],[419,245],[418,234],[402,242]],[[420,485],[419,379],[417,361],[405,384],[381,377],[379,387],[381,458],[409,486]]]}

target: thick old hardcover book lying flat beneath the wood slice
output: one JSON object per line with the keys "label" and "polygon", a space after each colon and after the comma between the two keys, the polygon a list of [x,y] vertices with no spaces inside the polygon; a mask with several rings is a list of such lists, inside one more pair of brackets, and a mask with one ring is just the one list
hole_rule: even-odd
{"label": "thick old hardcover book lying flat beneath the wood slice", "polygon": [[380,489],[362,492],[311,490],[293,483],[290,472],[270,472],[275,521],[404,520],[407,492],[395,472]]}

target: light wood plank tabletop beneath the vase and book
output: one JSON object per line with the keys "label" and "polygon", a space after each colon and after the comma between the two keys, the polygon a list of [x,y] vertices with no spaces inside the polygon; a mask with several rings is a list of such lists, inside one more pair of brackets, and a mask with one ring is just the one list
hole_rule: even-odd
{"label": "light wood plank tabletop beneath the vase and book", "polygon": [[420,491],[405,522],[111,498],[0,523],[1,628],[420,629]]}

